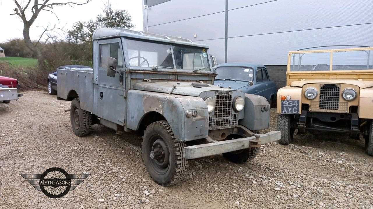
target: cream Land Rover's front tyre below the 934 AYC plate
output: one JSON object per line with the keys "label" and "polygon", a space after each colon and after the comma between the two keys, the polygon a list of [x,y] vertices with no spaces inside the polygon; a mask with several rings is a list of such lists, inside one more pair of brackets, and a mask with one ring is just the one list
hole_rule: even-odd
{"label": "cream Land Rover's front tyre below the 934 AYC plate", "polygon": [[281,132],[279,144],[288,145],[293,142],[294,128],[291,128],[292,115],[279,114],[277,116],[277,130]]}

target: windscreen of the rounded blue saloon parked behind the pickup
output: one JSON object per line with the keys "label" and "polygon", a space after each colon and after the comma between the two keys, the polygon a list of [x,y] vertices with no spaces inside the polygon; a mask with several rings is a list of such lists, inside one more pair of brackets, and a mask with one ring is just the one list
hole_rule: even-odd
{"label": "windscreen of the rounded blue saloon parked behind the pickup", "polygon": [[239,81],[253,81],[254,70],[250,67],[217,67],[216,79],[234,79]]}

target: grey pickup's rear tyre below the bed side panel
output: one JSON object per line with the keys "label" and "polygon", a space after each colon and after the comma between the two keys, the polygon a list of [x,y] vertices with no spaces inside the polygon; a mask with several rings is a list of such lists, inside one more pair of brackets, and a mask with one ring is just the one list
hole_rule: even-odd
{"label": "grey pickup's rear tyre below the bed side panel", "polygon": [[[78,117],[78,119],[76,118]],[[87,136],[90,132],[92,121],[91,113],[80,108],[79,98],[71,102],[70,107],[71,128],[77,136]]]}

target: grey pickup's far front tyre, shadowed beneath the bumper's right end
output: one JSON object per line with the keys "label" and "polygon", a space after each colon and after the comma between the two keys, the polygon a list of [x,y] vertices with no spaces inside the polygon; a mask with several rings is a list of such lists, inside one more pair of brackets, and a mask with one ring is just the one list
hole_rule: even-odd
{"label": "grey pickup's far front tyre, shadowed beneath the bumper's right end", "polygon": [[223,156],[232,163],[243,164],[247,161],[254,160],[254,158],[256,158],[256,156],[259,154],[259,151],[260,147],[251,147],[238,151],[223,153]]}

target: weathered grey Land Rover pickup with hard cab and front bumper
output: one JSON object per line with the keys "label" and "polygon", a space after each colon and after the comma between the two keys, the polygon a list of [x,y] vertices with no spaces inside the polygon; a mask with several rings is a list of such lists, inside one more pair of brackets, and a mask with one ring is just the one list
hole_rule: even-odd
{"label": "weathered grey Land Rover pickup with hard cab and front bumper", "polygon": [[123,28],[93,34],[93,70],[58,69],[57,99],[70,100],[74,133],[98,123],[138,131],[142,158],[154,181],[169,186],[188,159],[223,154],[252,160],[280,132],[269,127],[264,97],[214,86],[209,46],[188,39]]}

